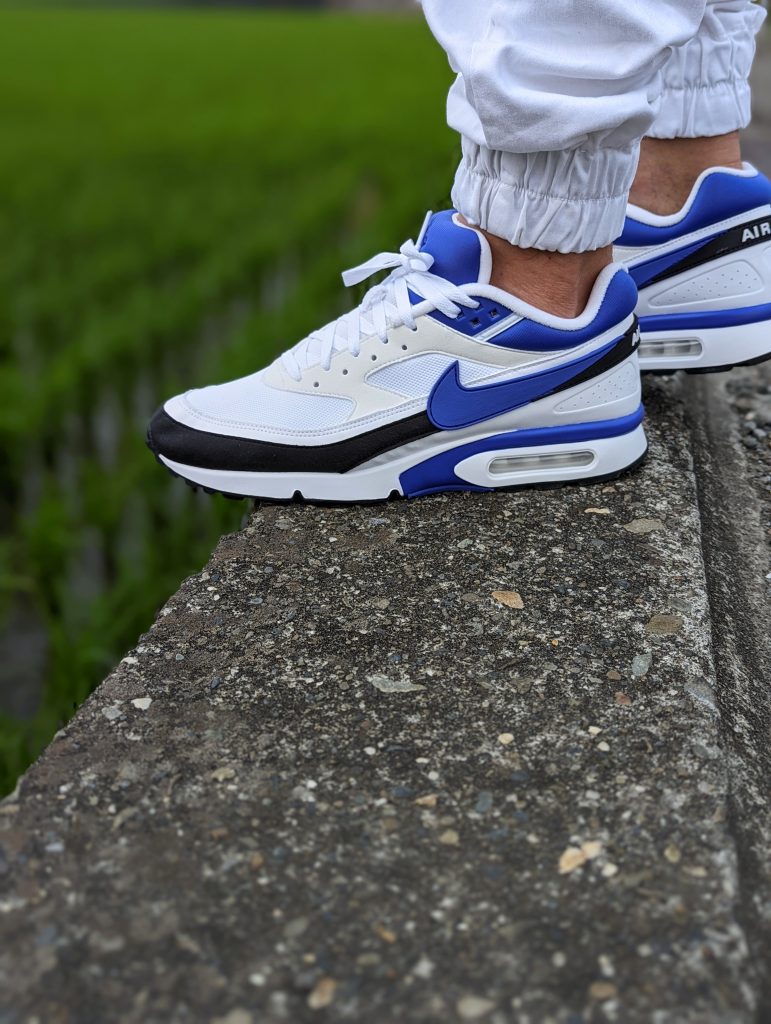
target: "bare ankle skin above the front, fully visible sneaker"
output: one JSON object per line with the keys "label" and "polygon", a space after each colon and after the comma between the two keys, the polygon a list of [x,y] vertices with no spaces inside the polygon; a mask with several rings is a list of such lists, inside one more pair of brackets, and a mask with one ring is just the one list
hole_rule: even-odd
{"label": "bare ankle skin above the front, fully visible sneaker", "polygon": [[[468,223],[463,216],[461,220]],[[489,231],[481,233],[492,253],[490,285],[555,316],[582,313],[597,275],[613,261],[612,246],[588,253],[552,253],[520,249]]]}

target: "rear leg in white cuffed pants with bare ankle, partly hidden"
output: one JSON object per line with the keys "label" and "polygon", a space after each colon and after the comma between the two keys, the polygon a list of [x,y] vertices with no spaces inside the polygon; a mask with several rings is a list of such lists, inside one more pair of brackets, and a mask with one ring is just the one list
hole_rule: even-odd
{"label": "rear leg in white cuffed pants with bare ankle, partly hidden", "polygon": [[696,35],[663,68],[661,105],[643,139],[631,200],[675,213],[710,167],[740,168],[749,70],[765,11],[749,0],[709,2]]}

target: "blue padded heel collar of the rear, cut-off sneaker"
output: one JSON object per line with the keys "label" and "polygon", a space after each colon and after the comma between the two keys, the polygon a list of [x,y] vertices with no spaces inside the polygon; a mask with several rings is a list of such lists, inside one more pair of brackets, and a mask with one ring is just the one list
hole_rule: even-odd
{"label": "blue padded heel collar of the rear, cut-off sneaker", "polygon": [[765,174],[759,172],[752,177],[738,177],[715,171],[701,182],[690,210],[677,223],[666,226],[643,224],[628,217],[616,244],[658,245],[766,205],[771,205],[771,181]]}

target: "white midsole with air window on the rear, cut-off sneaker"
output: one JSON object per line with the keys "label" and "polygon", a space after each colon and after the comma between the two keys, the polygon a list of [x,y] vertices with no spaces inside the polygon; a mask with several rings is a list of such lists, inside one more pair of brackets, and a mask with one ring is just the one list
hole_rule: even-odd
{"label": "white midsole with air window on the rear, cut-off sneaker", "polygon": [[735,327],[642,331],[640,370],[708,370],[771,355],[771,321]]}

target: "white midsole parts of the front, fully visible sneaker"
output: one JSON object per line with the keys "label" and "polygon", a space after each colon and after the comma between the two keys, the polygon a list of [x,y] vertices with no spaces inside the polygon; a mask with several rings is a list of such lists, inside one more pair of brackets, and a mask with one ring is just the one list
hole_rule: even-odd
{"label": "white midsole parts of the front, fully visible sneaker", "polygon": [[[599,425],[598,425],[599,426]],[[442,435],[446,438],[446,435]],[[494,435],[486,435],[494,436]],[[420,452],[410,445],[394,450],[388,461],[370,463],[346,473],[250,473],[185,466],[160,456],[174,473],[204,487],[249,498],[289,500],[296,492],[310,501],[362,502],[403,494],[400,475],[435,455],[458,445],[443,440]],[[455,474],[473,486],[511,487],[589,479],[620,472],[637,462],[646,450],[642,426],[618,437],[507,447],[476,453],[459,462]]]}

